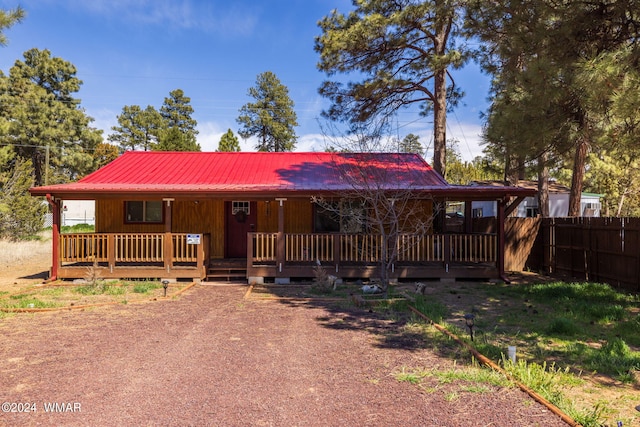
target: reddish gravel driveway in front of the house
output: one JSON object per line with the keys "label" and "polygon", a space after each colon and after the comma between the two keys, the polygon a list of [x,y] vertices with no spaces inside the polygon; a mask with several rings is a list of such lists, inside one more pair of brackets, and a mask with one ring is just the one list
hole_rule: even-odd
{"label": "reddish gravel driveway in front of the house", "polygon": [[[246,290],[1,318],[2,402],[36,412],[0,413],[0,425],[566,425],[517,388],[396,380],[453,362],[376,313]],[[47,412],[54,402],[65,412]]]}

